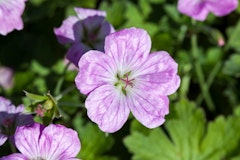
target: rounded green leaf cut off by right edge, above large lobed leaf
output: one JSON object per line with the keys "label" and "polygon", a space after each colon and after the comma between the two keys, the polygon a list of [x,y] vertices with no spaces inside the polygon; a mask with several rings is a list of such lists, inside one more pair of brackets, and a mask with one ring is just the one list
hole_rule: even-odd
{"label": "rounded green leaf cut off by right edge, above large lobed leaf", "polygon": [[240,54],[233,54],[230,56],[224,64],[223,73],[240,77]]}

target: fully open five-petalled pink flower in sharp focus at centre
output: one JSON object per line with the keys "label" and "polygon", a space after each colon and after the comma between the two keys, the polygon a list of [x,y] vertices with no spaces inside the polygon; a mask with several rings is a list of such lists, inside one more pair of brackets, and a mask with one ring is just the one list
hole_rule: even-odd
{"label": "fully open five-petalled pink flower in sharp focus at centre", "polygon": [[106,37],[105,54],[92,50],[80,59],[75,82],[102,131],[119,130],[130,111],[148,128],[164,123],[167,96],[180,85],[178,65],[165,51],[149,54],[150,48],[147,32],[130,28]]}

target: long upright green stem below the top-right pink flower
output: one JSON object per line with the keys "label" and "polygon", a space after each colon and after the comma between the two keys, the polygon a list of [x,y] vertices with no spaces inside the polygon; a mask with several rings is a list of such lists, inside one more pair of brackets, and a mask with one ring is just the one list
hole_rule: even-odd
{"label": "long upright green stem below the top-right pink flower", "polygon": [[[196,22],[193,21],[193,24]],[[198,46],[197,46],[197,34],[193,33],[191,36],[191,47],[192,47],[192,56],[194,59],[194,67],[195,67],[195,72],[199,81],[200,89],[203,94],[203,98],[205,99],[205,102],[207,104],[207,107],[210,111],[215,110],[214,103],[211,99],[211,96],[209,94],[209,88],[205,82],[203,70],[199,61],[199,53],[198,53]]]}

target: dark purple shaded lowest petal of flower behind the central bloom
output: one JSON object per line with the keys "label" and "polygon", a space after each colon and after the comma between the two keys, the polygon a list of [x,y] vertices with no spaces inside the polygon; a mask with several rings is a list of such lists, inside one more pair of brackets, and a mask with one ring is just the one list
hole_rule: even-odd
{"label": "dark purple shaded lowest petal of flower behind the central bloom", "polygon": [[72,62],[76,67],[78,67],[78,62],[81,56],[90,50],[90,47],[80,43],[75,42],[68,50],[66,58]]}

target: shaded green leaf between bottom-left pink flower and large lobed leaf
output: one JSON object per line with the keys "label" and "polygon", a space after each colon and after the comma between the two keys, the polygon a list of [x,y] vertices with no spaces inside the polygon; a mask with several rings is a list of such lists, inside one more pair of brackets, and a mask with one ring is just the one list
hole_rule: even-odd
{"label": "shaded green leaf between bottom-left pink flower and large lobed leaf", "polygon": [[79,133],[82,145],[81,152],[78,155],[79,158],[87,160],[116,160],[115,157],[104,155],[113,145],[111,135],[106,135],[91,122],[84,123],[81,114],[76,115],[73,126]]}

